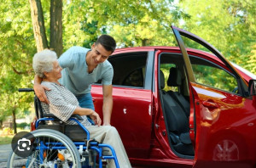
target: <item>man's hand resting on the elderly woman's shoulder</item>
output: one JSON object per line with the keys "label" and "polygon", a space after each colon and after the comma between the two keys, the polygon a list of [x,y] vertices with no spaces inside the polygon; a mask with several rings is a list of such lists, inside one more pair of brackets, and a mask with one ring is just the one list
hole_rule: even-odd
{"label": "man's hand resting on the elderly woman's shoulder", "polygon": [[41,82],[42,82],[42,78],[40,78],[38,75],[35,75],[34,91],[41,102],[44,102],[45,104],[49,104],[49,100],[46,97],[44,90],[50,91],[50,89],[48,87],[41,85]]}

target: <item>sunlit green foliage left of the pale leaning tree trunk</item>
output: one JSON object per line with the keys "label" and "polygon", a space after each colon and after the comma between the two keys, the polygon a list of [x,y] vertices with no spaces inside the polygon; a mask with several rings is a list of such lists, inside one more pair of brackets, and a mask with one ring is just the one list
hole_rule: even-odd
{"label": "sunlit green foliage left of the pale leaning tree trunk", "polygon": [[[8,1],[0,5],[0,119],[29,109],[31,95],[20,95],[18,88],[32,87],[32,54],[35,45],[28,2]],[[15,10],[14,10],[15,8]],[[20,100],[24,101],[20,101]],[[14,127],[16,132],[16,127]]]}

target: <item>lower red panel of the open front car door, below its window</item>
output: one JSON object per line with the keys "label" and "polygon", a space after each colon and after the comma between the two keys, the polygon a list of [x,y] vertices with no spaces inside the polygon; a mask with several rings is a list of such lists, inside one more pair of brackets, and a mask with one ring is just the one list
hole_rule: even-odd
{"label": "lower red panel of the open front car door, below its window", "polygon": [[[253,134],[252,140],[246,140],[247,135],[255,129],[255,108],[252,100],[196,83],[191,85],[198,106],[195,109],[195,158],[199,163],[195,167],[201,167],[199,165],[205,160],[239,162],[246,159],[249,152],[246,148],[253,147],[253,139],[256,138]],[[203,104],[209,100],[218,107],[212,108],[211,105]],[[248,108],[250,106],[252,108]],[[208,164],[212,163],[209,161]]]}

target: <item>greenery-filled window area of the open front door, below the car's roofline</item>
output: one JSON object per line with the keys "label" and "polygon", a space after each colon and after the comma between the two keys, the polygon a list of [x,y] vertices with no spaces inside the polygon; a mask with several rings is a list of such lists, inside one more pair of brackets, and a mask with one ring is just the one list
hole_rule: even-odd
{"label": "greenery-filled window area of the open front door, below the car's roofline", "polygon": [[238,84],[236,78],[230,72],[207,60],[196,60],[198,59],[192,59],[191,64],[197,83],[215,87],[226,92],[237,92]]}

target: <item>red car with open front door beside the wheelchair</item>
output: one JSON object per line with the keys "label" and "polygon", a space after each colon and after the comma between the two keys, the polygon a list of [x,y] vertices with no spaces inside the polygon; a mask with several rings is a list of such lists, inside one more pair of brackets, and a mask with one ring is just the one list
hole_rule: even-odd
{"label": "red car with open front door beside the wheelchair", "polygon": [[[255,167],[256,76],[200,37],[172,30],[179,48],[120,48],[108,59],[111,122],[131,164]],[[102,86],[91,93],[102,115]]]}

